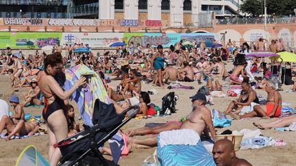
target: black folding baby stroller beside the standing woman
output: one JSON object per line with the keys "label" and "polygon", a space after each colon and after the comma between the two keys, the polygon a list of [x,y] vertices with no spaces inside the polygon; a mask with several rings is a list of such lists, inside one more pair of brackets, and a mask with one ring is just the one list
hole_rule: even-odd
{"label": "black folding baby stroller beside the standing woman", "polygon": [[97,99],[93,113],[94,126],[85,127],[84,131],[56,144],[55,147],[62,152],[59,165],[110,165],[99,152],[99,147],[136,116],[138,110],[139,107],[135,105],[116,114],[113,104],[108,105]]}

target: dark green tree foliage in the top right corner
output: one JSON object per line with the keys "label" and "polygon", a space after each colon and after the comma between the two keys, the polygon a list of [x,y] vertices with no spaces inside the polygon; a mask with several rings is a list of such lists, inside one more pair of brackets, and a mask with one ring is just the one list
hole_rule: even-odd
{"label": "dark green tree foliage in the top right corner", "polygon": [[[267,14],[275,14],[276,16],[295,15],[295,0],[266,0]],[[252,16],[264,14],[264,0],[243,0],[240,5],[240,11]]]}

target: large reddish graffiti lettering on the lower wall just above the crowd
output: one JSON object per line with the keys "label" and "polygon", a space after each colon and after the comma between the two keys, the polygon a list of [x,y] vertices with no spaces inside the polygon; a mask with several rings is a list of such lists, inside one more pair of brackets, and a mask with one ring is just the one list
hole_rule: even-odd
{"label": "large reddish graffiti lettering on the lower wall just above the crowd", "polygon": [[146,47],[147,44],[151,46],[158,46],[160,44],[169,44],[170,40],[167,36],[132,36],[129,40],[130,42],[134,42],[134,44],[140,44],[141,46]]}

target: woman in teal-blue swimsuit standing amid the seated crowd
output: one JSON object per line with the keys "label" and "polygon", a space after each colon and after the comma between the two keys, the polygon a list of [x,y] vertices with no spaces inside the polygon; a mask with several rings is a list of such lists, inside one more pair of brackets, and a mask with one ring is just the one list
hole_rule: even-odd
{"label": "woman in teal-blue swimsuit standing amid the seated crowd", "polygon": [[157,83],[160,83],[160,87],[162,87],[162,70],[164,67],[164,55],[162,52],[163,51],[162,45],[158,45],[157,49],[158,49],[158,52],[154,54],[152,58],[153,68],[157,72],[154,85],[156,85]]}

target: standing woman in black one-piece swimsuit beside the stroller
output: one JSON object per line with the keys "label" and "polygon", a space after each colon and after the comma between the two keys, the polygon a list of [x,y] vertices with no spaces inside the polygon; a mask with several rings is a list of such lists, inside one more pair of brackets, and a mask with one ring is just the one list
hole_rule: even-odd
{"label": "standing woman in black one-piece swimsuit beside the stroller", "polygon": [[42,117],[47,123],[49,133],[49,163],[57,165],[60,160],[60,149],[53,145],[66,139],[68,133],[67,120],[64,115],[64,100],[69,98],[73,92],[86,83],[86,79],[81,77],[75,85],[64,92],[58,82],[53,78],[62,68],[62,55],[55,53],[48,55],[45,59],[45,70],[38,74],[38,85],[44,96],[45,107]]}

